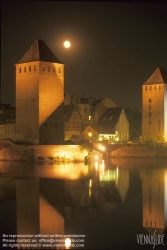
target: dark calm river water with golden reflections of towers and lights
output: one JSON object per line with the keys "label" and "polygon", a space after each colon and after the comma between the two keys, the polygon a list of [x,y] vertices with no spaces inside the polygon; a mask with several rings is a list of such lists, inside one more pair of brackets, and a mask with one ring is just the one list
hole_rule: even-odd
{"label": "dark calm river water with golden reflections of towers and lights", "polygon": [[85,234],[84,249],[148,249],[136,235],[167,226],[165,160],[0,162],[0,173],[1,236]]}

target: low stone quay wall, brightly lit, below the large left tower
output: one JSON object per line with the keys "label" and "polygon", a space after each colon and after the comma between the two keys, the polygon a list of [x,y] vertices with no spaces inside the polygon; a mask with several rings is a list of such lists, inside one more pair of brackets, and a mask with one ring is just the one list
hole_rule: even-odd
{"label": "low stone quay wall, brightly lit, below the large left tower", "polygon": [[16,145],[0,141],[0,160],[83,162],[88,155],[78,145]]}

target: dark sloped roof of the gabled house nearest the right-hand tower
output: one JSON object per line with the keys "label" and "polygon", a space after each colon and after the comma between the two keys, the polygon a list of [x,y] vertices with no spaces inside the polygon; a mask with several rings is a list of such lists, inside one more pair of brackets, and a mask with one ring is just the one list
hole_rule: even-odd
{"label": "dark sloped roof of the gabled house nearest the right-hand tower", "polygon": [[122,111],[122,107],[115,107],[115,108],[107,108],[104,114],[101,116],[99,120],[99,124],[103,125],[116,125],[120,114]]}

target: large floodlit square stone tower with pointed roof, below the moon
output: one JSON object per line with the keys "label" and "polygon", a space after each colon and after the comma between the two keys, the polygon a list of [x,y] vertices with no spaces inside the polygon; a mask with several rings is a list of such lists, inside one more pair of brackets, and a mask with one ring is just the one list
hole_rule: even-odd
{"label": "large floodlit square stone tower with pointed roof, below the moon", "polygon": [[42,40],[16,64],[16,141],[64,140],[64,64]]}

